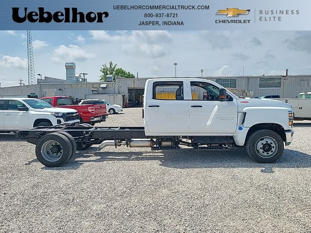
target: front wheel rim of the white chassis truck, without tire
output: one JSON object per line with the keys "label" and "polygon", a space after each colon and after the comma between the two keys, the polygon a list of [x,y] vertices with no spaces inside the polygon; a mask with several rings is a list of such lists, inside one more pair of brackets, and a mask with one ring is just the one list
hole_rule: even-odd
{"label": "front wheel rim of the white chassis truck, without tire", "polygon": [[264,136],[256,142],[256,152],[261,158],[268,159],[273,157],[277,149],[277,142],[272,137]]}

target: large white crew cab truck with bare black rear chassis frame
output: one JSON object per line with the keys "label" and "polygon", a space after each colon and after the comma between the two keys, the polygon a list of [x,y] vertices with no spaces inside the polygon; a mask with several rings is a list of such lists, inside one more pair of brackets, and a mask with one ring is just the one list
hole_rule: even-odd
{"label": "large white crew cab truck with bare black rear chassis frame", "polygon": [[149,79],[142,111],[144,127],[61,125],[16,132],[36,145],[45,166],[62,166],[76,150],[93,144],[172,150],[229,150],[245,146],[258,163],[273,163],[293,140],[291,105],[240,99],[205,79]]}

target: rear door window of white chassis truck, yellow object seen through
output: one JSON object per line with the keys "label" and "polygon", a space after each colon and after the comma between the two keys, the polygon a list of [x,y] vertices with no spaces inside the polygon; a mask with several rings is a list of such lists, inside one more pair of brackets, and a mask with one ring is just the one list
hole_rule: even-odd
{"label": "rear door window of white chassis truck, yellow object seen through", "polygon": [[155,82],[153,84],[154,100],[184,100],[183,82]]}

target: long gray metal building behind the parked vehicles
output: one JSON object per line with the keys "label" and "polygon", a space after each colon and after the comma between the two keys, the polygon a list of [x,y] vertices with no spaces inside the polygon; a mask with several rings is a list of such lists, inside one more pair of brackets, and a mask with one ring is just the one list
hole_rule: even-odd
{"label": "long gray metal building behind the parked vehicles", "polygon": [[[2,87],[0,95],[38,98],[69,96],[73,99],[106,99],[122,106],[126,102],[139,105],[143,101],[147,79],[117,77],[115,82],[106,83],[60,83],[61,81],[57,79],[45,77],[35,85]],[[294,98],[301,92],[311,91],[311,75],[203,77],[203,79],[212,80],[224,87],[253,91],[254,97],[280,95],[281,98]]]}

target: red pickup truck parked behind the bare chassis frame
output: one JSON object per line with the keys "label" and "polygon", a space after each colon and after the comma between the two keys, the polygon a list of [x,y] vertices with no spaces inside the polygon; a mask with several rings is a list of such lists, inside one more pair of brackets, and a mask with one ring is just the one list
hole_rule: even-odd
{"label": "red pickup truck parked behind the bare chassis frame", "polygon": [[77,110],[80,116],[80,121],[83,123],[95,125],[95,123],[105,121],[108,117],[105,104],[73,105],[67,96],[43,97],[40,100],[44,100],[54,107],[71,108]]}

